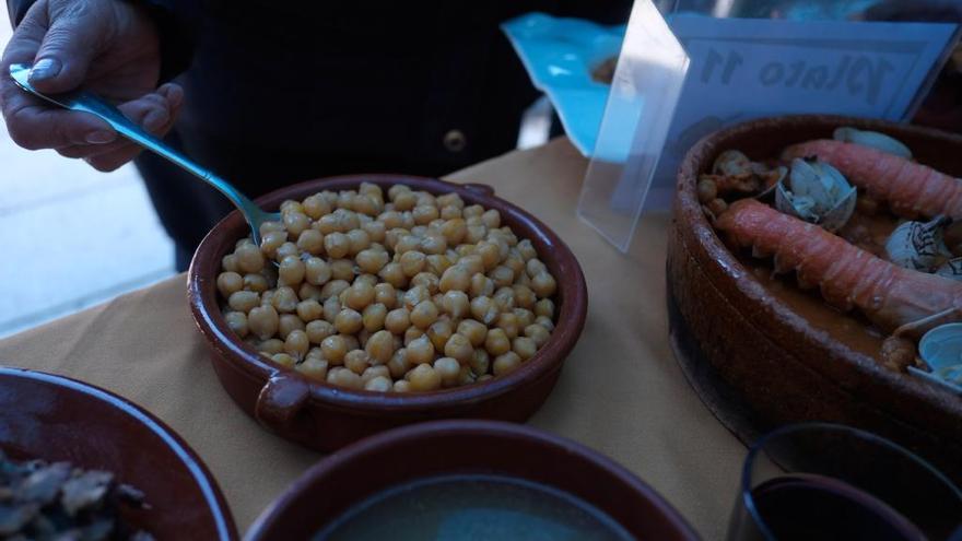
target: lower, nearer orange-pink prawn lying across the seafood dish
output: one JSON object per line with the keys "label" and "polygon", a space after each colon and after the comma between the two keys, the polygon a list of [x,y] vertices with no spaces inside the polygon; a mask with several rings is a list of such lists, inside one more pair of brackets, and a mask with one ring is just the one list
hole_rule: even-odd
{"label": "lower, nearer orange-pink prawn lying across the seafood dish", "polygon": [[742,199],[715,222],[737,246],[775,258],[775,272],[797,271],[842,310],[858,308],[880,329],[917,337],[962,311],[962,282],[892,264],[818,225]]}

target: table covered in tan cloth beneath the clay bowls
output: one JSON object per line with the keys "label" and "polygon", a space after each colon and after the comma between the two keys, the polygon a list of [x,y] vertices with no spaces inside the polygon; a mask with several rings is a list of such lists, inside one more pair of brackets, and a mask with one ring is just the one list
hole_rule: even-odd
{"label": "table covered in tan cloth beneath the clay bowls", "polygon": [[[585,272],[584,333],[530,424],[612,457],[705,539],[722,539],[746,450],[701,403],[669,346],[670,216],[643,217],[631,252],[619,252],[575,215],[586,166],[558,139],[448,177],[491,185],[544,221]],[[0,363],[74,377],[153,412],[204,460],[244,532],[322,456],[266,432],[234,405],[195,329],[185,284],[180,274],[8,338],[0,341]]]}

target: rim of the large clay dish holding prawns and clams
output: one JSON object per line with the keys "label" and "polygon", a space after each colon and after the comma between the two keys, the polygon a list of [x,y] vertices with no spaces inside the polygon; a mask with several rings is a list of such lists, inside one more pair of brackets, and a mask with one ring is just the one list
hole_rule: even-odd
{"label": "rim of the large clay dish holding prawns and clams", "polygon": [[[760,127],[767,127],[771,129],[775,125],[781,125],[785,129],[798,127],[820,128],[824,126],[826,130],[830,126],[854,126],[860,129],[877,130],[885,133],[904,133],[930,140],[942,140],[947,143],[959,145],[960,149],[962,149],[962,136],[947,133],[935,128],[902,125],[871,118],[847,117],[841,115],[779,115],[748,120],[708,133],[699,140],[699,142],[685,153],[677,176],[678,195],[676,212],[680,212],[684,215],[684,221],[693,227],[693,236],[702,244],[704,250],[713,259],[713,263],[723,270],[726,278],[734,280],[735,286],[750,302],[753,304],[770,303],[773,305],[775,318],[779,322],[791,329],[805,332],[806,336],[818,337],[813,339],[824,345],[828,350],[843,352],[842,356],[844,356],[846,364],[854,368],[857,374],[871,378],[880,378],[881,381],[898,389],[900,392],[915,396],[919,396],[920,393],[929,399],[945,401],[947,397],[951,396],[948,390],[936,388],[936,386],[924,381],[918,381],[918,378],[916,377],[906,377],[904,374],[893,373],[882,367],[868,355],[853,350],[847,344],[823,337],[824,332],[821,329],[813,327],[811,322],[797,314],[790,306],[788,306],[788,304],[777,297],[769,295],[767,287],[765,287],[737,257],[735,257],[712,224],[708,223],[707,217],[701,209],[701,204],[697,202],[697,176],[702,173],[702,169],[699,167],[700,163],[707,158],[714,160],[714,156],[717,156],[718,153],[728,150],[725,148],[726,141],[743,137]],[[801,142],[801,140],[796,142]],[[680,221],[680,219],[681,216],[676,214],[674,220]],[[801,361],[809,368],[828,377],[828,373],[820,367],[820,363],[807,360]],[[850,390],[856,391],[857,389],[853,388]]]}

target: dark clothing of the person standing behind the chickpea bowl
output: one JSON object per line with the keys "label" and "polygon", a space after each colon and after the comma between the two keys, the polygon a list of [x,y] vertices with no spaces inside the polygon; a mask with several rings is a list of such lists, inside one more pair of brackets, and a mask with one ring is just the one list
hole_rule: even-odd
{"label": "dark clothing of the person standing behind the chickpea bowl", "polygon": [[[8,0],[12,12],[28,3]],[[443,175],[513,149],[537,93],[498,24],[529,11],[627,20],[631,1],[141,0],[185,106],[169,140],[250,197],[343,173]],[[230,203],[137,160],[183,254]]]}

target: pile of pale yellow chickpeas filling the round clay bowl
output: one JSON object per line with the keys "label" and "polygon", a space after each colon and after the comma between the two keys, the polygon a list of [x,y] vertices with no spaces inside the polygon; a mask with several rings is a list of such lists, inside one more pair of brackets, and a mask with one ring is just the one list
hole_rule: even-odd
{"label": "pile of pale yellow chickpeas filling the round clay bowl", "polygon": [[284,201],[216,285],[224,319],[274,363],[371,391],[507,374],[554,330],[554,277],[501,215],[395,185]]}

